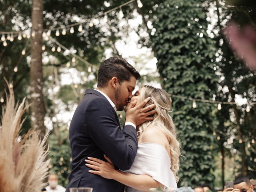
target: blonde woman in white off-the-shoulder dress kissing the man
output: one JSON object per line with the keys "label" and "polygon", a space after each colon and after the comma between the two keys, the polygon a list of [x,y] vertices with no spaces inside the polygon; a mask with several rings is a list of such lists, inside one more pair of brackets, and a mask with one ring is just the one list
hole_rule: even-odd
{"label": "blonde woman in white off-the-shoulder dress kissing the man", "polygon": [[138,105],[147,97],[151,97],[151,102],[156,104],[154,119],[136,128],[138,150],[132,167],[125,172],[115,170],[106,156],[108,162],[97,158],[86,160],[86,166],[94,169],[89,172],[125,184],[126,192],[149,191],[158,186],[164,188],[165,192],[177,189],[180,143],[169,115],[172,101],[166,91],[143,86],[134,94],[131,102],[136,99]]}

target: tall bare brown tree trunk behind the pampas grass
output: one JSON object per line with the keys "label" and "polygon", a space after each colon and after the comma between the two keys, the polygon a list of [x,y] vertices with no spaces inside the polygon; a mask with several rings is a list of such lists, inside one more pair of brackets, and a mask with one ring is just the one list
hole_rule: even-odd
{"label": "tall bare brown tree trunk behind the pampas grass", "polygon": [[43,70],[42,70],[42,32],[43,32],[43,0],[32,0],[32,33],[31,36],[31,126],[40,130],[40,138],[45,134]]}

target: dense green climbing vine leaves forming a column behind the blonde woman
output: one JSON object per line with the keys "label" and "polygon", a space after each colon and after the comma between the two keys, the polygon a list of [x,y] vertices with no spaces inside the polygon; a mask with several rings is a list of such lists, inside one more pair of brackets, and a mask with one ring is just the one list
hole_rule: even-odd
{"label": "dense green climbing vine leaves forming a column behind the blonde woman", "polygon": [[[164,89],[170,94],[211,99],[218,77],[215,45],[206,33],[207,7],[201,0],[166,0],[158,7],[151,45],[158,59]],[[216,106],[172,97],[171,113],[186,157],[179,170],[180,186],[212,183]]]}

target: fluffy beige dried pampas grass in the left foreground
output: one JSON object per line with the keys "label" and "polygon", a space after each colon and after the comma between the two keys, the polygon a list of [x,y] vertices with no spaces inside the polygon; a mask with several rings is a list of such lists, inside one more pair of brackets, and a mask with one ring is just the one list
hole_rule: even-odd
{"label": "fluffy beige dried pampas grass in the left foreground", "polygon": [[42,141],[34,129],[18,138],[24,122],[22,115],[28,106],[24,106],[25,98],[20,105],[15,104],[14,92],[9,85],[8,88],[10,94],[6,96],[0,123],[0,192],[40,192],[46,186],[44,179],[48,174],[49,132]]}

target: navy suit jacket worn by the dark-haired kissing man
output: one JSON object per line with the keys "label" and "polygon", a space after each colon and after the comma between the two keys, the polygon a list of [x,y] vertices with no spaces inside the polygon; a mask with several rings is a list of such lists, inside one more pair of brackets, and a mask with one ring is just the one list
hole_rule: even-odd
{"label": "navy suit jacket worn by the dark-haired kissing man", "polygon": [[116,169],[128,170],[137,152],[137,133],[131,125],[120,128],[118,116],[110,102],[100,92],[88,89],[76,108],[69,129],[72,151],[71,187],[92,187],[93,192],[123,192],[124,185],[88,172],[87,157],[104,160],[106,154]]}

